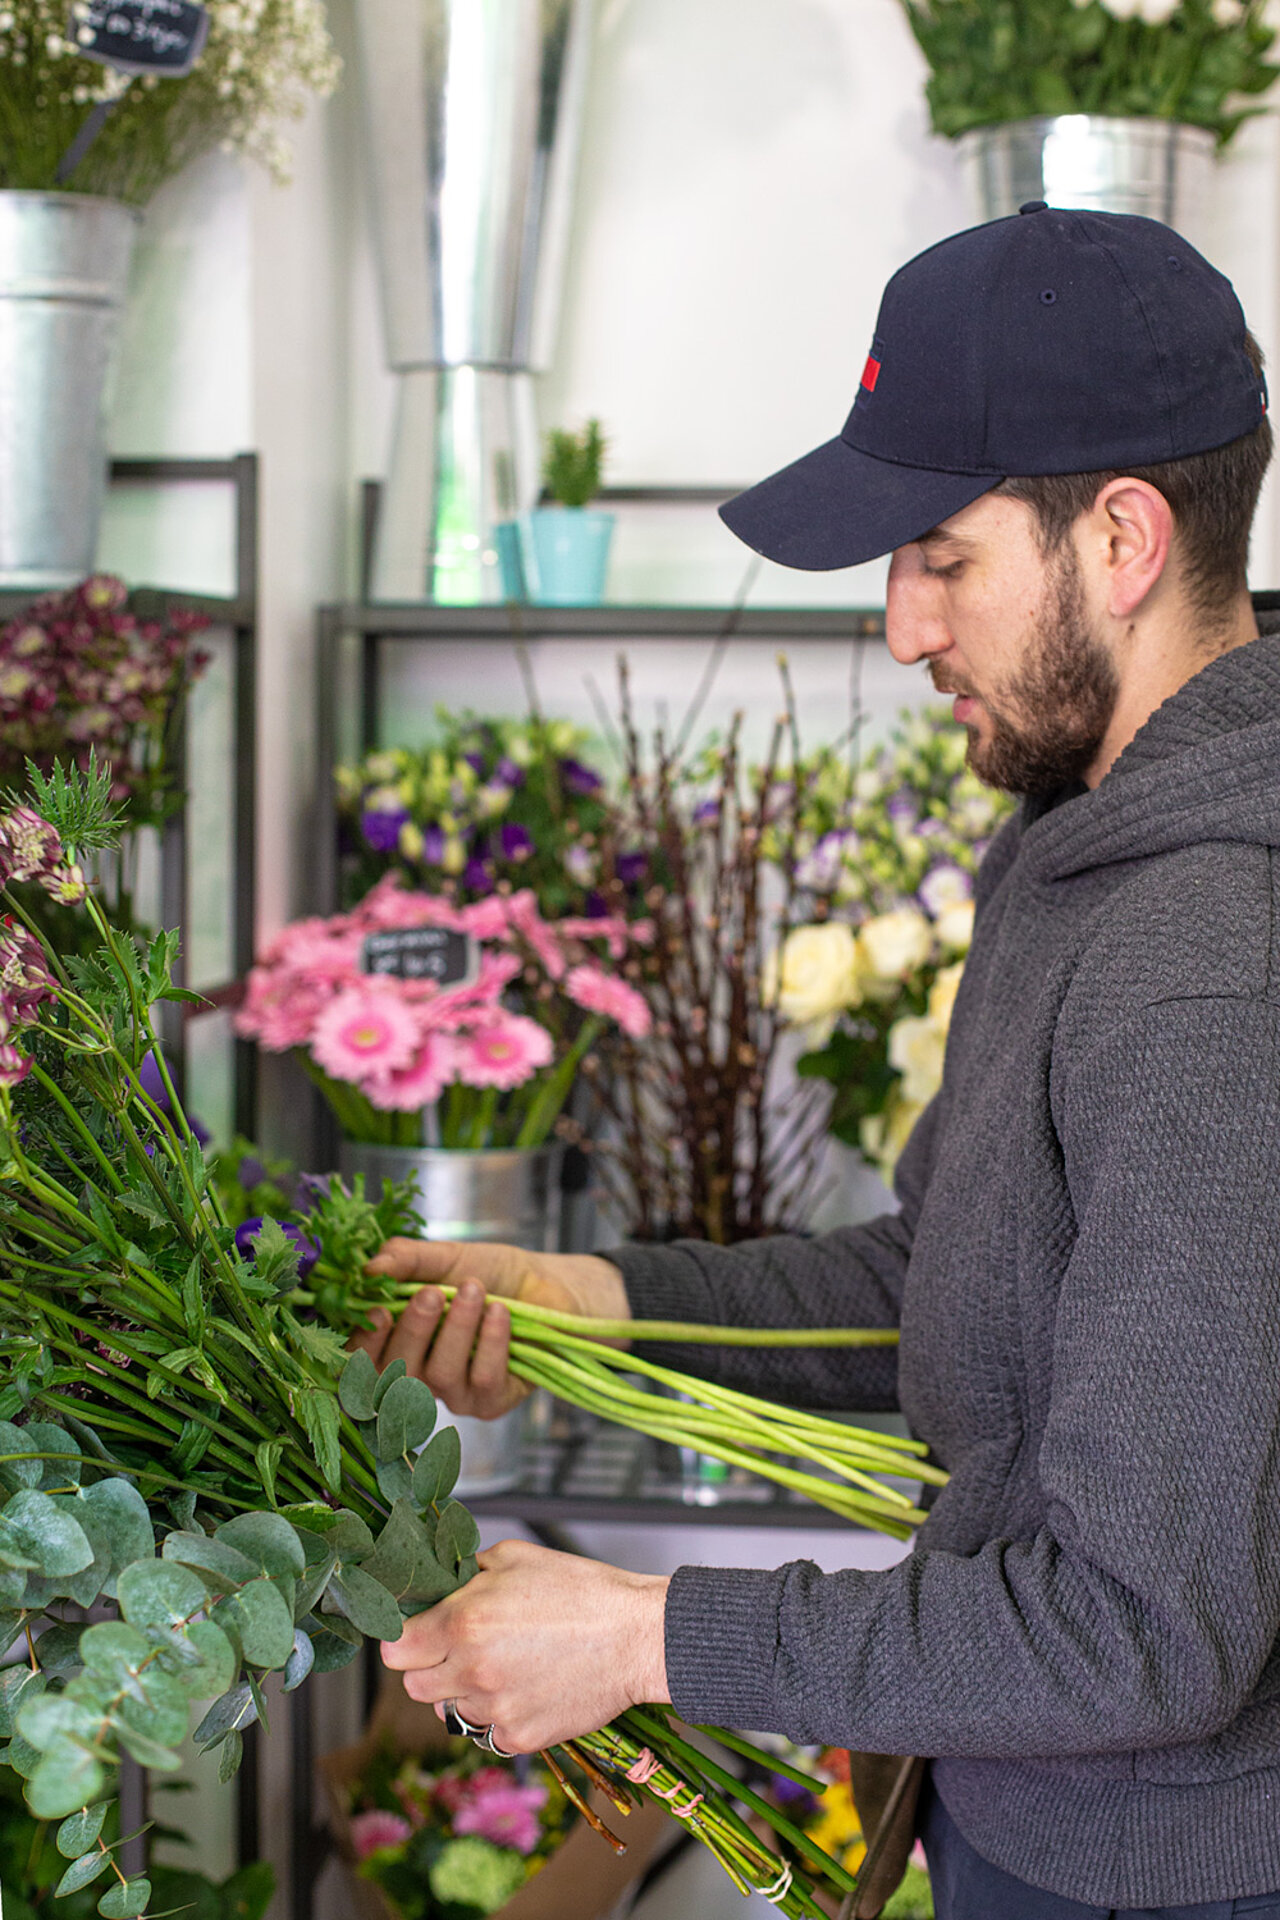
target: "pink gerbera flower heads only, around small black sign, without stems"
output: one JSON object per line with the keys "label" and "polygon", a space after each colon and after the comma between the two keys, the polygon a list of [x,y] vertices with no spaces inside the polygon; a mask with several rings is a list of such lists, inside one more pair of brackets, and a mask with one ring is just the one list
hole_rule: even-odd
{"label": "pink gerbera flower heads only, around small black sign, without stems", "polygon": [[[409,927],[468,933],[476,977],[439,987],[363,970],[370,935]],[[591,948],[601,943],[620,962],[645,939],[649,927],[620,918],[543,920],[530,889],[457,906],[390,874],[353,912],[299,920],[273,941],[249,973],[236,1031],[269,1052],[305,1048],[380,1110],[415,1112],[457,1083],[507,1092],[553,1064],[574,1008],[635,1039],[649,1033],[643,995]]]}

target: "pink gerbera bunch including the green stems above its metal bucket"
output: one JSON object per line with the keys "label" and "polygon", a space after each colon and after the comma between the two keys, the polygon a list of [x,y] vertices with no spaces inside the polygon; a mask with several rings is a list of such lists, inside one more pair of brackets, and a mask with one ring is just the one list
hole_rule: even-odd
{"label": "pink gerbera bunch including the green stems above its metal bucket", "polygon": [[[478,968],[451,987],[365,970],[370,937],[411,927],[468,937]],[[620,916],[543,920],[530,889],[457,906],[388,876],[353,912],[284,929],[249,973],[236,1031],[297,1050],[349,1140],[541,1146],[604,1031],[649,1031],[624,979],[647,933]]]}

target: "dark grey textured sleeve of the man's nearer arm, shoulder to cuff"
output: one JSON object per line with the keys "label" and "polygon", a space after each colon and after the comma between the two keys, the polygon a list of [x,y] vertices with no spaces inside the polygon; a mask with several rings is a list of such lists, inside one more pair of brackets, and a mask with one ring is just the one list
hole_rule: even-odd
{"label": "dark grey textured sleeve of the man's nearer arm, shoulder to cuff", "polygon": [[[1038,1530],[965,1557],[925,1528],[887,1572],[681,1567],[683,1718],[1065,1759],[1209,1740],[1253,1695],[1280,1634],[1280,1012],[1148,1006],[1052,1104],[1069,1202],[1029,1229],[1073,1246]],[[981,1505],[984,1471],[975,1450],[935,1513]]]}

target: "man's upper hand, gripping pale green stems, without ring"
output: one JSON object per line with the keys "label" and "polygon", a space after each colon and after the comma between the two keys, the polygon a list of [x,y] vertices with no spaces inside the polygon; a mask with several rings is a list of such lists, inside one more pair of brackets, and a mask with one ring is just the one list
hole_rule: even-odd
{"label": "man's upper hand, gripping pale green stems, without ring", "polygon": [[[372,1313],[374,1325],[353,1334],[349,1348],[365,1348],[376,1367],[403,1359],[407,1371],[426,1380],[451,1413],[472,1413],[484,1421],[510,1413],[530,1392],[507,1367],[510,1313],[497,1300],[486,1308],[486,1294],[528,1300],[560,1313],[631,1317],[618,1267],[595,1254],[532,1254],[487,1240],[397,1238],[386,1242],[367,1271],[426,1284],[397,1321],[382,1309]],[[459,1288],[447,1311],[439,1284]]]}

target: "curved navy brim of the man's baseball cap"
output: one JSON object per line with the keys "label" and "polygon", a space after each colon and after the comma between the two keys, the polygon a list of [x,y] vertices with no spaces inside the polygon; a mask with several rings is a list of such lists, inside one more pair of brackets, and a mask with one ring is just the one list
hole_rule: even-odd
{"label": "curved navy brim of the man's baseball cap", "polygon": [[837,438],[735,493],[720,518],[766,561],[831,572],[906,547],[1000,480],[898,467]]}

